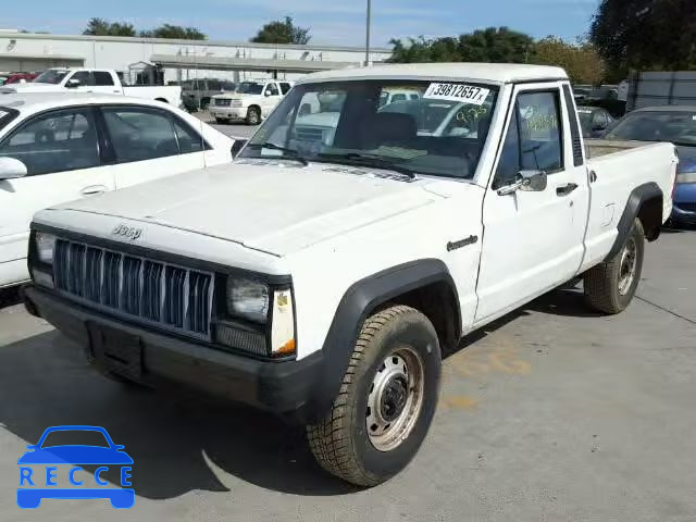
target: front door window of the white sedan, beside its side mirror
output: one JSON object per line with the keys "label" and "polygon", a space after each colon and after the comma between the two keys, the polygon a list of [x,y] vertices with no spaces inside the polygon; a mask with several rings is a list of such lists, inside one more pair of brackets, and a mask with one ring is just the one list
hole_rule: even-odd
{"label": "front door window of the white sedan, beside its side mirror", "polygon": [[0,144],[0,157],[22,161],[29,176],[99,166],[92,112],[71,109],[36,116]]}

